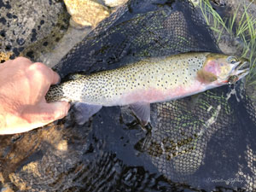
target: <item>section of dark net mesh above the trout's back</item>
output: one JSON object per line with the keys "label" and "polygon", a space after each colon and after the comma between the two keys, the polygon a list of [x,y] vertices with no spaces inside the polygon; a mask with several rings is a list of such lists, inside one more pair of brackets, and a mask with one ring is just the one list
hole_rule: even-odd
{"label": "section of dark net mesh above the trout's back", "polygon": [[130,1],[77,44],[55,70],[64,77],[189,51],[219,52],[211,30],[191,3]]}

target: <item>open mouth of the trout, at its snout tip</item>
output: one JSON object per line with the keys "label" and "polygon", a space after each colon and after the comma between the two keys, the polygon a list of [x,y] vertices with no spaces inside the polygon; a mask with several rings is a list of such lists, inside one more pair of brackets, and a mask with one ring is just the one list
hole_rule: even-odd
{"label": "open mouth of the trout, at its snout tip", "polygon": [[229,84],[236,83],[236,81],[245,77],[250,71],[250,63],[247,60],[238,61],[232,65],[233,67],[228,79]]}

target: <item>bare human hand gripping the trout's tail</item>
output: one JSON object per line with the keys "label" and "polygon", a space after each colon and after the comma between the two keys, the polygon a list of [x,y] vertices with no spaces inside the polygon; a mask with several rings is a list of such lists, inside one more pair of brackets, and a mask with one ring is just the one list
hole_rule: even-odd
{"label": "bare human hand gripping the trout's tail", "polygon": [[30,131],[66,116],[68,102],[47,103],[44,98],[59,79],[43,63],[24,57],[0,64],[0,134]]}

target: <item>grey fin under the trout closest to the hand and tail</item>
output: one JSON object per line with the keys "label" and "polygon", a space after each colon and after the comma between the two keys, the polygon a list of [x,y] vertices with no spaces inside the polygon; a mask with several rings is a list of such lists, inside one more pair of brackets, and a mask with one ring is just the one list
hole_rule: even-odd
{"label": "grey fin under the trout closest to the hand and tail", "polygon": [[101,110],[102,105],[90,105],[84,102],[74,104],[74,118],[79,125],[83,125],[89,118]]}

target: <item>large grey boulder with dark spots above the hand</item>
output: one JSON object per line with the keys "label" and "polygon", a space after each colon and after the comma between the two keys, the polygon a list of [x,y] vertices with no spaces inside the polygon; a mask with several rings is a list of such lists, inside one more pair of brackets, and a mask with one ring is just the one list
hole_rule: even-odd
{"label": "large grey boulder with dark spots above the hand", "polygon": [[[69,15],[57,0],[0,1],[0,53],[32,61],[50,51],[67,31]],[[12,53],[12,54],[10,54]]]}

